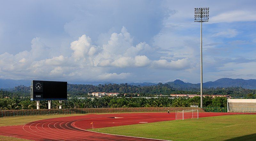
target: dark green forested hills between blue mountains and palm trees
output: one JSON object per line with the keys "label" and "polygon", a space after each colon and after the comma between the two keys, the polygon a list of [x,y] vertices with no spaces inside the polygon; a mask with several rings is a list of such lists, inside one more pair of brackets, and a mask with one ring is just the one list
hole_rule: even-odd
{"label": "dark green forested hills between blue mountains and palm trees", "polygon": [[[117,92],[120,94],[128,94],[126,96],[155,96],[155,95],[170,95],[170,94],[200,94],[200,88],[190,88],[185,90],[183,88],[173,88],[168,84],[158,83],[153,86],[133,86],[125,84],[105,84],[105,85],[82,85],[82,84],[68,84],[68,97],[85,97],[88,92]],[[234,98],[246,97],[248,94],[255,95],[256,90],[228,87],[228,88],[204,88],[205,95],[230,95]],[[10,91],[2,91],[0,96],[29,96],[30,88],[26,86],[17,86]],[[120,95],[120,96],[122,96]]]}

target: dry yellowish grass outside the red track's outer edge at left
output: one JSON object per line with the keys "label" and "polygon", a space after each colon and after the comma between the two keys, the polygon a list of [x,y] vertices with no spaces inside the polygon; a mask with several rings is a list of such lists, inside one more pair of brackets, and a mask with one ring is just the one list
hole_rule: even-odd
{"label": "dry yellowish grass outside the red track's outer edge at left", "polygon": [[[65,117],[65,116],[80,116],[80,115],[84,115],[84,114],[6,117],[6,118],[0,118],[0,126],[24,125],[26,123],[42,120],[42,119]],[[0,136],[0,140],[1,141],[28,141],[26,139],[19,139],[14,137],[7,137],[7,136]]]}

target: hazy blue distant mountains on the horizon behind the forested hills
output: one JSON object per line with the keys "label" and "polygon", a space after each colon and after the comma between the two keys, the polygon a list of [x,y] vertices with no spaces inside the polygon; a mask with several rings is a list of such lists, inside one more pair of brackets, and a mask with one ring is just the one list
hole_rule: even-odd
{"label": "hazy blue distant mountains on the horizon behind the forested hills", "polygon": [[[0,88],[14,88],[15,86],[24,85],[24,86],[30,86],[31,80],[11,80],[11,79],[0,79]],[[111,82],[101,83],[101,84],[110,84]],[[113,83],[111,83],[113,84]],[[156,83],[150,83],[150,82],[144,82],[144,83],[128,83],[130,85],[135,86],[152,86],[157,85]],[[181,80],[175,80],[172,82],[167,82],[165,84],[170,85],[173,88],[200,88],[200,83],[198,84],[192,84],[192,83],[186,83]],[[97,84],[95,84],[97,85]],[[216,81],[209,81],[203,83],[204,88],[225,88],[225,87],[242,87],[247,89],[256,89],[256,79],[231,79],[231,78],[221,78]]]}

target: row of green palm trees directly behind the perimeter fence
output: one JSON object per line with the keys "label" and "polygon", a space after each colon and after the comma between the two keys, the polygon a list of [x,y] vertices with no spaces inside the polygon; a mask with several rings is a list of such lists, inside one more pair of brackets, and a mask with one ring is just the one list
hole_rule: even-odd
{"label": "row of green palm trees directly behind the perimeter fence", "polygon": [[[144,97],[109,97],[100,98],[68,98],[62,101],[62,108],[128,108],[128,107],[190,107],[198,105],[200,107],[200,97],[193,98],[144,98]],[[204,107],[227,107],[225,97],[212,98],[204,97]],[[53,100],[52,109],[58,109],[59,101]],[[36,109],[36,101],[30,101],[28,97],[0,98],[0,110],[14,109]],[[48,101],[40,101],[40,109],[48,109]]]}

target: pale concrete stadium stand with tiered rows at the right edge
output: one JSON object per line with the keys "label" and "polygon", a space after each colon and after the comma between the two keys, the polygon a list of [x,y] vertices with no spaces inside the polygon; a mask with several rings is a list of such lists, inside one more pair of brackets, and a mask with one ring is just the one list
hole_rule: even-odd
{"label": "pale concrete stadium stand with tiered rows at the right edge", "polygon": [[228,112],[256,112],[256,99],[228,99]]}

